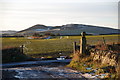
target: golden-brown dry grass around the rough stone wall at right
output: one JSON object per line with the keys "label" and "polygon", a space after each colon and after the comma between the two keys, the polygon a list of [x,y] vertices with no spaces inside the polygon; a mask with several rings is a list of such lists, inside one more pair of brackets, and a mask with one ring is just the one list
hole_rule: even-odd
{"label": "golden-brown dry grass around the rough stone wall at right", "polygon": [[[109,51],[109,46],[111,47],[111,50],[116,53],[119,53],[119,44],[100,44],[96,46],[96,49],[99,50],[108,50]],[[119,61],[120,62],[120,59]],[[84,66],[86,65],[86,66]],[[120,65],[116,66],[111,66],[109,64],[101,64],[101,62],[98,61],[94,61],[93,60],[93,56],[84,56],[81,55],[78,51],[73,55],[73,59],[71,61],[71,63],[67,66],[67,67],[71,67],[73,69],[77,69],[80,70],[82,72],[92,72],[92,70],[86,70],[86,68],[92,68],[92,69],[97,69],[97,72],[95,72],[95,74],[99,75],[99,74],[106,74],[108,73],[109,76],[106,78],[108,80],[112,80],[112,79],[118,79],[120,80]]]}

